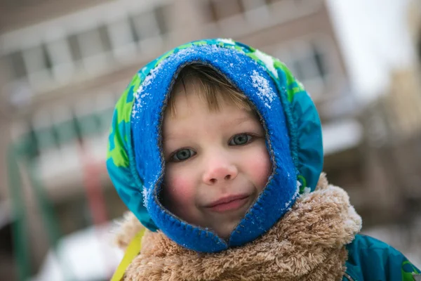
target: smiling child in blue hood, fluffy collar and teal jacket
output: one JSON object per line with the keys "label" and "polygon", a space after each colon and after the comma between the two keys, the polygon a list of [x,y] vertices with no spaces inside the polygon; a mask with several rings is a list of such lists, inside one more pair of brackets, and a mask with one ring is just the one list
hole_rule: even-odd
{"label": "smiling child in blue hood, fluffy collar and teal jacket", "polygon": [[107,169],[134,214],[112,280],[413,280],[322,166],[319,115],[279,60],[227,39],[162,55],[112,122]]}

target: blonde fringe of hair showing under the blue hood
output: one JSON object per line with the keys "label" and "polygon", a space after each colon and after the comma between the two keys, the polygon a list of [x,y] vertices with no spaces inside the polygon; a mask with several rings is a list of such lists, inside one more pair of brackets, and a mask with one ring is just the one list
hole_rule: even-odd
{"label": "blonde fringe of hair showing under the blue hood", "polygon": [[[206,102],[209,110],[220,110],[220,103],[224,101],[240,109],[254,111],[253,105],[241,91],[236,89],[224,75],[207,65],[194,63],[184,67],[178,74],[173,89],[182,86],[186,92],[186,82],[194,80],[198,81],[194,86],[199,87],[195,92],[199,95],[199,98]],[[169,110],[171,116],[174,116],[176,112],[174,98],[172,96],[171,93],[167,110]]]}

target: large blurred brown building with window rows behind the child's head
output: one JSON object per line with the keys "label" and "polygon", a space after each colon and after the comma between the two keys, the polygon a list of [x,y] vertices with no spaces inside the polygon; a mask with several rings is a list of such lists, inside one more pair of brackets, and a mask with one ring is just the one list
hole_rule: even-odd
{"label": "large blurred brown building with window rows behind the child's head", "polygon": [[[325,1],[3,2],[0,200],[26,206],[34,270],[48,249],[49,230],[41,223],[45,208],[31,173],[63,234],[95,223],[95,217],[120,216],[124,207],[105,171],[113,106],[145,63],[194,39],[229,37],[283,60],[319,108],[330,181],[349,191],[363,216],[394,203],[384,174],[367,160],[359,103]],[[405,105],[396,110],[405,112]],[[11,145],[21,152],[22,198],[6,188],[11,164],[3,159]]]}

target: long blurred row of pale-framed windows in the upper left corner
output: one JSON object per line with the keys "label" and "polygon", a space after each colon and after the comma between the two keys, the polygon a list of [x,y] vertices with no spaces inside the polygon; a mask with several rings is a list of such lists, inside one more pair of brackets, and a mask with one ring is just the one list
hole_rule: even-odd
{"label": "long blurred row of pale-framed windows in the upper left corner", "polygon": [[[163,37],[171,31],[167,12],[173,4],[164,1],[152,5],[152,2],[150,6],[147,5],[147,11],[129,11],[122,8],[122,11],[116,11],[112,15],[114,21],[102,18],[97,22],[107,24],[90,26],[88,30],[79,30],[83,22],[74,27],[68,24],[67,20],[62,22],[62,26],[58,21],[60,24],[57,26],[47,28],[46,36],[39,34],[39,37],[47,38],[46,41],[38,42],[38,45],[30,48],[26,46],[31,46],[32,39],[26,39],[27,36],[20,31],[11,32],[14,33],[12,39],[22,39],[9,40],[13,41],[13,44],[8,44],[11,46],[8,48],[15,49],[5,56],[10,69],[8,78],[11,79],[6,85],[7,91],[21,89],[22,85],[34,93],[50,91],[71,79],[86,79],[107,71],[112,58],[129,63],[138,47],[145,53],[155,51],[162,43]],[[77,33],[66,34],[71,30],[76,32],[76,29]],[[34,28],[33,31],[35,30]],[[39,33],[39,30],[33,33],[37,32]],[[25,46],[25,49],[21,45]],[[12,93],[11,96],[16,95]]]}

